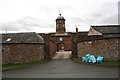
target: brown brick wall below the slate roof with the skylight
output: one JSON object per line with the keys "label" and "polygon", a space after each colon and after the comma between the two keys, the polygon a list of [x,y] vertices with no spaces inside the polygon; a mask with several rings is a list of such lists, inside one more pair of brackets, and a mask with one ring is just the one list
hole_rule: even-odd
{"label": "brown brick wall below the slate roof with the skylight", "polygon": [[27,63],[44,59],[43,44],[3,44],[2,64]]}

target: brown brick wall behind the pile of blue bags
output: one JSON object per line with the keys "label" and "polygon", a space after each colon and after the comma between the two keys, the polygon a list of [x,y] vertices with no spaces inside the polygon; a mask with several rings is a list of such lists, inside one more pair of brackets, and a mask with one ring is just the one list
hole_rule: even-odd
{"label": "brown brick wall behind the pile of blue bags", "polygon": [[[118,60],[120,51],[118,39],[104,39],[95,41],[80,42],[77,45],[78,56],[85,56],[87,53],[95,56],[102,55],[104,60]],[[120,60],[120,58],[119,58]]]}

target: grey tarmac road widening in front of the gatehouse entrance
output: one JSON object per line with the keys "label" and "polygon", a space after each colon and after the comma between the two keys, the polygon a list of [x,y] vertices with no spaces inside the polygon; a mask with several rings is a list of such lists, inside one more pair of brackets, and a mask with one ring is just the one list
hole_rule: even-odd
{"label": "grey tarmac road widening in front of the gatehouse entrance", "polygon": [[118,78],[118,68],[56,59],[29,68],[4,71],[2,74],[3,78]]}

